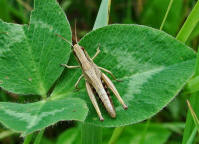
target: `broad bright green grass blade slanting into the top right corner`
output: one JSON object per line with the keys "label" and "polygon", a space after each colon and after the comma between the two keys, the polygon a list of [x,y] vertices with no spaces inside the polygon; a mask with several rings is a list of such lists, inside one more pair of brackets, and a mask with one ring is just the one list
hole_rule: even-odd
{"label": "broad bright green grass blade slanting into the top right corner", "polygon": [[185,21],[184,25],[182,26],[176,38],[182,42],[186,42],[198,22],[199,22],[199,1],[197,1],[196,5],[189,14],[187,20]]}

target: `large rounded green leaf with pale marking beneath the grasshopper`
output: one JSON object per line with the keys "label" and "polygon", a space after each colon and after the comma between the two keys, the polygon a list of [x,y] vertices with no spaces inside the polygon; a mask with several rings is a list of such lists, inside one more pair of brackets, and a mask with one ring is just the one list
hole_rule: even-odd
{"label": "large rounded green leaf with pale marking beneath the grasshopper", "polygon": [[[86,122],[95,125],[116,127],[152,117],[180,92],[193,75],[194,51],[168,34],[149,27],[110,25],[90,32],[79,44],[91,57],[100,45],[101,53],[94,61],[122,80],[114,83],[128,110],[123,110],[112,96],[116,119],[110,118],[99,102],[105,118],[104,122],[99,121],[84,82],[80,83],[80,91],[73,92],[80,70],[67,69],[51,96],[85,99],[90,110]],[[75,61],[71,58],[69,65],[75,65]]]}

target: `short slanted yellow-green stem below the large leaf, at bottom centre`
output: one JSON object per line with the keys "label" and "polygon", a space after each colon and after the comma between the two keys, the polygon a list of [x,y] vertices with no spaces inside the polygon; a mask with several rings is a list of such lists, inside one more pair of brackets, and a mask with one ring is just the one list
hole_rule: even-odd
{"label": "short slanted yellow-green stem below the large leaf, at bottom centre", "polygon": [[108,142],[108,144],[115,144],[125,127],[117,127],[114,129],[113,134]]}

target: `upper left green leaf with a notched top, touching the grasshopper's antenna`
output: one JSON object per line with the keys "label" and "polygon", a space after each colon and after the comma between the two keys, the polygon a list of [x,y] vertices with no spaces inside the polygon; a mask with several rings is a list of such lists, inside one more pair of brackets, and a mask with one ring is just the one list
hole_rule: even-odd
{"label": "upper left green leaf with a notched top, touching the grasshopper's antenna", "polygon": [[0,20],[0,86],[17,94],[45,96],[70,55],[66,16],[56,0],[35,0],[30,25]]}

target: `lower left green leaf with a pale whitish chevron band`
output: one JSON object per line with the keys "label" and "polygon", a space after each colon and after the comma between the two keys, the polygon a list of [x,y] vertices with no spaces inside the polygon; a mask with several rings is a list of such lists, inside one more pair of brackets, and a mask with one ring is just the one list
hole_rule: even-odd
{"label": "lower left green leaf with a pale whitish chevron band", "polygon": [[28,104],[0,103],[0,122],[27,135],[60,120],[84,121],[88,109],[81,99],[47,100]]}

